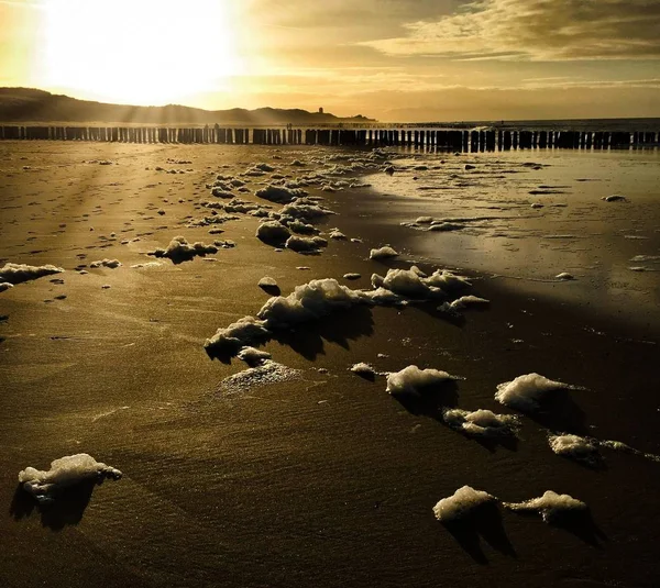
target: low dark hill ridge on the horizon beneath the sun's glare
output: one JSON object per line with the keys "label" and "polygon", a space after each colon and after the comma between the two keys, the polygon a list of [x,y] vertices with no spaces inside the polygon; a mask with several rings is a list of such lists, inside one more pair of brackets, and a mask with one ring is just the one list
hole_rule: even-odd
{"label": "low dark hill ridge on the horizon beneath the sun's glare", "polygon": [[0,121],[2,122],[105,122],[140,124],[320,124],[369,122],[358,114],[340,118],[328,112],[301,109],[258,108],[246,110],[204,110],[167,104],[138,107],[78,100],[33,88],[0,88]]}

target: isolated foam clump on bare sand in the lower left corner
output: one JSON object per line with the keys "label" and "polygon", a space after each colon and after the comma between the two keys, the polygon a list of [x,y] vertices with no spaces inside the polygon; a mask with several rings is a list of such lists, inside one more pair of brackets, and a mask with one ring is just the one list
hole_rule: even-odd
{"label": "isolated foam clump on bare sand in the lower left corner", "polygon": [[26,467],[19,474],[19,482],[42,504],[53,502],[57,495],[70,486],[91,480],[100,484],[106,478],[119,479],[122,473],[86,453],[67,455],[51,463],[44,471]]}

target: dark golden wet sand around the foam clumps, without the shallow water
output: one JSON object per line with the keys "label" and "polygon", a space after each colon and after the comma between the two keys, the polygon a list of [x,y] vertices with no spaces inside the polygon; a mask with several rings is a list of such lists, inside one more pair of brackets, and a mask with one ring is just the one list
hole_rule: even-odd
{"label": "dark golden wet sand around the foam clumps, without the shallow water", "polygon": [[[416,236],[425,235],[400,226],[396,207],[383,208],[364,188],[309,188],[339,212],[321,230],[338,226],[363,241],[330,241],[318,256],[274,252],[254,237],[258,219],[245,214],[218,225],[224,232],[217,235],[208,233],[215,225],[186,226],[187,217],[209,213],[197,203],[218,174],[267,162],[296,177],[305,168],[289,166],[293,159],[337,151],[38,142],[0,148],[2,263],[66,270],[0,293],[3,585],[657,584],[660,465],[604,451],[607,468],[593,470],[547,443],[549,429],[571,430],[660,454],[651,326],[586,313],[474,268],[465,273],[475,293],[492,303],[462,324],[447,321],[437,304],[358,307],[264,346],[300,370],[294,379],[228,390],[222,380],[245,365],[211,360],[202,345],[268,299],[258,279],[272,276],[284,295],[326,277],[370,288],[372,273],[408,267],[408,259],[427,270],[441,265],[416,249]],[[98,163],[106,159],[113,163]],[[254,190],[270,176],[250,178],[250,191],[237,195],[258,201]],[[235,247],[178,265],[146,255],[179,234]],[[402,256],[370,260],[369,249],[385,242]],[[75,270],[102,258],[122,266]],[[163,265],[131,268],[154,260]],[[362,278],[342,280],[348,271]],[[570,410],[554,421],[522,417],[514,446],[485,447],[424,407],[397,402],[383,376],[369,381],[350,373],[358,362],[462,376],[455,402],[471,410],[513,412],[494,400],[496,385],[529,371],[584,389],[571,392]],[[44,468],[79,452],[124,477],[43,512],[16,491],[25,466]],[[452,534],[431,509],[465,484],[503,500],[568,492],[591,507],[594,524],[568,531],[503,512]]]}

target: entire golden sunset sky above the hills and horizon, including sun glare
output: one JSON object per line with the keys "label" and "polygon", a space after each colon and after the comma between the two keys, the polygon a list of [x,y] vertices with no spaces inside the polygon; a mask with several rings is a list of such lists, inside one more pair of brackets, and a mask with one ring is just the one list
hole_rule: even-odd
{"label": "entire golden sunset sky above the hills and horizon, including sun glare", "polygon": [[0,86],[383,121],[660,117],[660,0],[0,0]]}

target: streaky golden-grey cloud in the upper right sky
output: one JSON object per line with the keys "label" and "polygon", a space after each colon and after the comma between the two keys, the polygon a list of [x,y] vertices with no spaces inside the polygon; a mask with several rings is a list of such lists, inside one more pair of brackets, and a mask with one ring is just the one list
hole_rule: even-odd
{"label": "streaky golden-grey cloud in the upper right sky", "polygon": [[405,30],[360,44],[462,59],[658,59],[660,0],[480,0]]}

